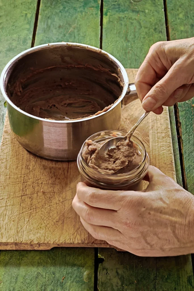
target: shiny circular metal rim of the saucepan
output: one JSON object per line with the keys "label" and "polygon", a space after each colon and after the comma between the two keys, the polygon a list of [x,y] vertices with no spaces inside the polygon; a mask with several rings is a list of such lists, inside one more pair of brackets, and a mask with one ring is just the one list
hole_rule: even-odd
{"label": "shiny circular metal rim of the saucepan", "polygon": [[[39,50],[43,47],[47,47],[47,46],[60,46],[60,45],[65,45],[65,46],[74,46],[74,47],[80,47],[80,48],[85,48],[85,49],[88,49],[90,51],[95,51],[95,52],[98,52],[100,54],[103,54],[105,55],[109,60],[113,61],[116,65],[118,65],[119,69],[120,69],[120,72],[123,76],[123,79],[124,79],[124,86],[123,86],[123,90],[122,90],[122,93],[120,95],[120,97],[118,98],[118,100],[113,104],[113,106],[111,108],[109,108],[107,111],[105,112],[102,112],[98,115],[93,115],[91,117],[86,117],[86,118],[80,118],[80,119],[77,119],[77,120],[48,120],[48,119],[45,119],[45,118],[40,118],[40,117],[37,117],[37,116],[34,116],[34,115],[31,115],[29,113],[26,113],[25,111],[21,110],[20,108],[18,108],[8,97],[6,91],[5,91],[5,79],[6,79],[6,75],[10,69],[10,66],[13,65],[14,63],[16,63],[19,59],[21,59],[23,56],[29,54],[30,52],[32,51],[36,51],[36,50]],[[111,111],[114,107],[116,107],[120,102],[121,100],[124,98],[125,94],[127,93],[127,89],[128,89],[128,84],[129,84],[129,79],[128,79],[128,76],[127,76],[127,72],[126,70],[124,69],[123,65],[115,58],[113,57],[111,54],[103,51],[102,49],[99,49],[97,47],[93,47],[93,46],[90,46],[90,45],[84,45],[84,44],[80,44],[80,43],[76,43],[76,42],[53,42],[53,43],[47,43],[47,44],[44,44],[44,45],[38,45],[36,47],[32,47],[30,49],[26,49],[25,51],[21,52],[20,54],[18,54],[17,56],[15,56],[14,58],[12,58],[8,63],[7,65],[5,66],[5,68],[3,69],[2,73],[1,73],[1,78],[0,78],[0,89],[1,89],[1,92],[3,94],[3,97],[6,99],[6,101],[14,108],[16,109],[17,111],[19,111],[20,113],[23,113],[24,115],[26,116],[29,116],[31,118],[35,118],[37,120],[42,120],[44,122],[47,122],[47,123],[76,123],[76,122],[80,122],[80,121],[86,121],[86,120],[90,120],[90,119],[93,119],[93,118],[96,118],[96,117],[99,117],[99,116],[102,116],[104,115],[105,113]]]}

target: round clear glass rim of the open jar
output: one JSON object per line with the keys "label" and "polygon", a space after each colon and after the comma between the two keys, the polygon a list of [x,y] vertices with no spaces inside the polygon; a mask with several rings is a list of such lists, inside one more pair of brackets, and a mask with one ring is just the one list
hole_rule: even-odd
{"label": "round clear glass rim of the open jar", "polygon": [[[88,137],[88,139],[86,139],[86,141],[88,141],[88,140],[92,140],[92,137],[93,136],[95,136],[95,135],[97,135],[97,134],[101,134],[101,133],[108,133],[108,132],[113,132],[113,130],[104,130],[104,131],[101,131],[101,132],[97,132],[97,133],[95,133],[95,134],[92,134],[90,137]],[[125,135],[125,134],[127,134],[127,132],[123,132],[123,131],[120,131],[120,130],[114,130],[114,132],[120,132],[120,133],[122,133],[123,134],[123,136]],[[130,172],[127,172],[127,173],[122,173],[122,174],[114,174],[114,176],[118,176],[118,177],[120,177],[120,178],[122,178],[122,177],[125,177],[126,176],[126,174],[131,174],[131,175],[133,175],[140,167],[141,167],[141,165],[145,162],[145,159],[146,159],[146,155],[147,155],[147,152],[146,152],[146,149],[145,149],[145,145],[142,143],[142,141],[140,141],[140,139],[138,139],[138,137],[136,137],[136,136],[134,136],[134,135],[132,135],[131,136],[131,140],[132,141],[134,141],[134,139],[135,139],[135,142],[137,142],[138,143],[138,145],[140,144],[140,146],[142,147],[142,149],[143,149],[143,159],[142,159],[142,162],[136,167],[136,168],[134,168],[132,171],[130,171]],[[104,174],[103,173],[101,173],[101,172],[99,172],[99,171],[97,171],[97,170],[95,170],[94,168],[92,168],[87,162],[86,162],[86,160],[83,158],[83,156],[82,156],[82,152],[83,152],[83,147],[85,146],[85,144],[86,144],[86,141],[84,141],[84,143],[83,143],[83,145],[82,145],[82,147],[81,147],[81,150],[80,150],[80,155],[81,155],[81,158],[82,158],[82,162],[85,164],[85,166],[87,166],[87,167],[89,167],[92,171],[94,171],[94,173],[95,172],[97,172],[98,173],[98,175],[100,175],[100,176],[104,176]],[[95,142],[95,140],[92,140],[92,141],[94,141]],[[111,177],[113,177],[113,174],[108,174],[108,173],[106,173],[106,176],[108,177],[108,178],[111,178]]]}

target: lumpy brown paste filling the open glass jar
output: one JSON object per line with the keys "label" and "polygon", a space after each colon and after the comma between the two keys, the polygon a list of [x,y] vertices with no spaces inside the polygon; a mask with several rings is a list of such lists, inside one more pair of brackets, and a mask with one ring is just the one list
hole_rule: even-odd
{"label": "lumpy brown paste filling the open glass jar", "polygon": [[108,150],[101,157],[98,155],[98,150],[103,143],[88,140],[82,153],[87,164],[99,172],[107,174],[129,173],[137,168],[142,161],[142,156],[132,141],[119,141],[116,148]]}

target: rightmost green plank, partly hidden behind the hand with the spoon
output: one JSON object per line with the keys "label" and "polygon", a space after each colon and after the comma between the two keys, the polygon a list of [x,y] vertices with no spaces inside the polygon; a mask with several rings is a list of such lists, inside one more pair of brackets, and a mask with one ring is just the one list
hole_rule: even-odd
{"label": "rightmost green plank, partly hidden behind the hand with the spoon", "polygon": [[[192,2],[167,0],[170,40],[193,37]],[[188,191],[194,194],[194,99],[178,104]]]}

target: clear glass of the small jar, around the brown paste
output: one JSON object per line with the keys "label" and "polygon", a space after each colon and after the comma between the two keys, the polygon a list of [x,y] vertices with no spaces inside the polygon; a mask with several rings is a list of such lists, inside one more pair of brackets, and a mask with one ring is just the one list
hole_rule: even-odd
{"label": "clear glass of the small jar, around the brown paste", "polygon": [[[98,132],[93,134],[88,138],[88,140],[100,143],[102,141],[107,141],[114,136],[124,136],[126,132],[116,131],[116,130],[106,130],[103,132]],[[77,158],[77,165],[81,173],[81,181],[88,181],[92,187],[101,189],[111,189],[111,190],[143,190],[143,178],[147,173],[149,166],[149,157],[145,150],[143,143],[136,137],[132,136],[131,141],[133,141],[139,150],[142,160],[141,163],[129,173],[123,174],[107,174],[101,173],[97,170],[91,168],[82,156],[83,149],[86,146],[86,141],[83,143],[81,150]]]}

